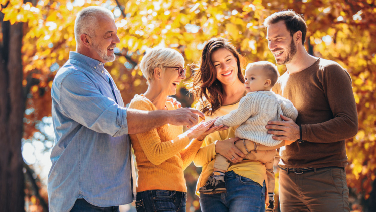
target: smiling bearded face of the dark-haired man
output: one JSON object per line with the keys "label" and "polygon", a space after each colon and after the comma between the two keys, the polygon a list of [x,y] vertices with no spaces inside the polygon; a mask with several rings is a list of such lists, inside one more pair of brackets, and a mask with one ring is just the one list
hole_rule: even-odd
{"label": "smiling bearded face of the dark-haired man", "polygon": [[279,21],[270,24],[267,29],[268,48],[273,53],[278,65],[285,65],[291,62],[296,54],[296,45],[285,22]]}

